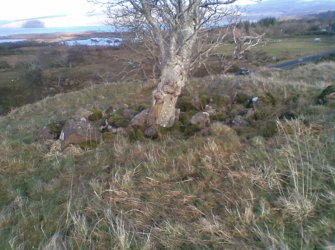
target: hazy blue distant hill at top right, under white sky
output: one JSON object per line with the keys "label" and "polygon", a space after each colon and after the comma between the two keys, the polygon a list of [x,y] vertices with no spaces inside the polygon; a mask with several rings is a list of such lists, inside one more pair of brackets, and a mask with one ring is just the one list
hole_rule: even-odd
{"label": "hazy blue distant hill at top right, under white sky", "polygon": [[265,16],[295,17],[335,10],[333,0],[263,0],[245,7],[249,19],[258,20]]}

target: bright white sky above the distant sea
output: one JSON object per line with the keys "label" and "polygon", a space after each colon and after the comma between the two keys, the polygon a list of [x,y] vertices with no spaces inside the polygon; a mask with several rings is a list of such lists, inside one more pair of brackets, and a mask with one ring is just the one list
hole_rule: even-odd
{"label": "bright white sky above the distant sea", "polygon": [[[257,2],[237,1],[240,5]],[[107,18],[103,8],[87,0],[1,0],[0,28],[20,27],[24,23],[22,19],[39,19],[46,27],[66,27],[100,26],[105,24]]]}

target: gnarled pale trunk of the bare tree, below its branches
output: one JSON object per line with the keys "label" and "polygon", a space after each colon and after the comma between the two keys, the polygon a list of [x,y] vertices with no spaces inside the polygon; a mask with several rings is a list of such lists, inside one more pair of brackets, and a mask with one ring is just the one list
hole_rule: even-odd
{"label": "gnarled pale trunk of the bare tree, below its branches", "polygon": [[148,116],[148,128],[157,125],[172,127],[176,118],[176,103],[187,81],[187,69],[183,60],[175,56],[162,69],[160,83],[153,92],[153,103]]}

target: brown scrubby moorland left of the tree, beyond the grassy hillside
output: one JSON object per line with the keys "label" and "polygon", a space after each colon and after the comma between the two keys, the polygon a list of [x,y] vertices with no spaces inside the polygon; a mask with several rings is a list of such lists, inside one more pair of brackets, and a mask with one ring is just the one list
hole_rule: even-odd
{"label": "brown scrubby moorland left of the tree, beyond the grassy hillside", "polygon": [[[143,79],[143,70],[146,71],[143,74],[145,76],[152,71],[150,66],[140,70],[130,67],[128,62],[137,60],[138,55],[134,56],[132,51],[125,48],[45,44],[20,48],[16,46],[18,45],[0,47],[1,61],[11,66],[0,70],[0,114],[47,96],[82,89],[92,84],[124,78]],[[36,80],[38,75],[33,74],[30,67],[23,67],[31,64],[41,69],[41,76],[38,77],[40,81]]]}

